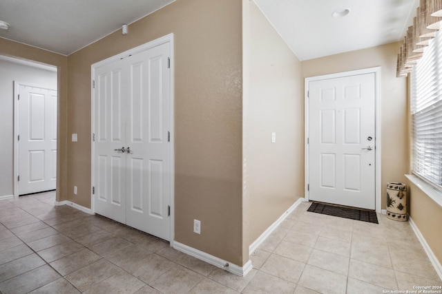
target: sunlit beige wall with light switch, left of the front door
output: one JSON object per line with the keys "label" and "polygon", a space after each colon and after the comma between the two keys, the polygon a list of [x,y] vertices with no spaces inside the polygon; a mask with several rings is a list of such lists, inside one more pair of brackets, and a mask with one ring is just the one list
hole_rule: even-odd
{"label": "sunlit beige wall with light switch, left of the front door", "polygon": [[245,255],[304,196],[304,98],[298,58],[253,1],[243,14]]}

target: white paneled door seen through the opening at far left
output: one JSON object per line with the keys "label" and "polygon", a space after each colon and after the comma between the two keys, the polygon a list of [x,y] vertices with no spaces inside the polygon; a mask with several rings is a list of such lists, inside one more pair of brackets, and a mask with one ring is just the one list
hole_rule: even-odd
{"label": "white paneled door seen through the opening at far left", "polygon": [[57,184],[57,90],[18,85],[19,195]]}

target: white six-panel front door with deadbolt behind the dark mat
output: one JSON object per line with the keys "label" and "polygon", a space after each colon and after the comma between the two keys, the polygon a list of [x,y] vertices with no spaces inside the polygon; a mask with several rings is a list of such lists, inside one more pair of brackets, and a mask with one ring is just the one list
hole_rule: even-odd
{"label": "white six-panel front door with deadbolt behind the dark mat", "polygon": [[375,209],[374,73],[310,81],[309,200]]}

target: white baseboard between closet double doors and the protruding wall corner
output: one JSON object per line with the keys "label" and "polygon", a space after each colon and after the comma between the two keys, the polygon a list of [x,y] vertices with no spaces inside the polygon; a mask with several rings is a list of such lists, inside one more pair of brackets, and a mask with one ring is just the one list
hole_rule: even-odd
{"label": "white baseboard between closet double doors and the protruding wall corner", "polygon": [[244,264],[244,266],[238,266],[236,264],[231,264],[231,263],[227,262],[226,260],[222,260],[221,258],[217,258],[216,256],[210,255],[209,253],[205,253],[205,252],[195,249],[191,246],[187,246],[185,244],[182,244],[180,242],[174,241],[173,248],[177,249],[177,251],[181,251],[183,253],[189,254],[189,255],[193,256],[194,258],[198,258],[199,260],[202,260],[204,262],[207,262],[209,264],[217,266],[220,269],[224,269],[226,271],[229,271],[230,273],[234,273],[235,275],[239,275],[240,277],[244,277],[252,269],[250,260],[246,264]]}

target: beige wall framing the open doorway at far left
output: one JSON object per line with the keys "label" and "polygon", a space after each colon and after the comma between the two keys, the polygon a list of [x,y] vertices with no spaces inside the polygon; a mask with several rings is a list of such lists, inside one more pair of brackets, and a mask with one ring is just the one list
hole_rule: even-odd
{"label": "beige wall framing the open doorway at far left", "polygon": [[[2,38],[0,38],[0,54],[57,66],[57,85],[59,96],[57,129],[57,200],[66,200],[66,183],[68,176],[66,168],[66,126],[68,120],[68,112],[66,108],[68,101],[67,58],[61,54],[55,54],[53,52],[48,52],[46,50],[41,50]],[[11,121],[10,123],[13,122]]]}

